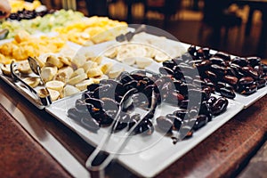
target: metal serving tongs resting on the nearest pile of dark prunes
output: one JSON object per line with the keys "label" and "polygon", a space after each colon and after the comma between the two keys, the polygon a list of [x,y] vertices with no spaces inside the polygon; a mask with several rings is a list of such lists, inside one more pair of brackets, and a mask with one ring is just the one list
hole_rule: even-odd
{"label": "metal serving tongs resting on the nearest pile of dark prunes", "polygon": [[[110,161],[112,161],[112,159],[116,157],[117,153],[122,148],[124,148],[123,146],[125,145],[125,143],[129,140],[129,138],[131,138],[130,136],[132,134],[134,134],[134,129],[136,128],[136,126],[138,126],[145,117],[148,117],[151,113],[152,114],[155,113],[155,109],[157,106],[157,100],[153,100],[156,97],[155,91],[153,90],[150,109],[141,117],[140,120],[138,120],[138,122],[135,123],[135,125],[129,131],[127,131],[123,135],[123,138],[116,144],[116,148],[113,151],[113,153],[109,153],[109,156],[106,156],[107,153],[105,153],[105,151],[103,151],[102,149],[105,148],[105,146],[108,144],[111,134],[113,134],[115,132],[115,128],[116,128],[116,125],[118,122],[118,117],[119,117],[119,114],[123,108],[123,104],[125,103],[125,101],[131,100],[131,96],[133,95],[134,90],[136,90],[136,89],[131,89],[127,93],[125,93],[125,96],[120,101],[117,115],[114,118],[111,126],[109,127],[109,133],[103,139],[101,139],[100,144],[97,146],[97,148],[95,150],[93,150],[93,153],[89,156],[89,158],[87,158],[85,166],[88,169],[90,169],[91,171],[103,171],[104,168],[109,165]],[[105,158],[103,158],[103,157],[105,157]],[[93,161],[98,162],[96,160],[96,158],[103,159],[99,165],[93,164]]]}

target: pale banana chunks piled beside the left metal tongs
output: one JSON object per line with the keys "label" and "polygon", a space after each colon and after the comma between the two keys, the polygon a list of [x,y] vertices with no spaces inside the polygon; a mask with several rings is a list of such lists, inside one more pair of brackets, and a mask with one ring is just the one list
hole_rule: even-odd
{"label": "pale banana chunks piled beside the left metal tongs", "polygon": [[[80,54],[73,58],[47,53],[35,57],[35,60],[41,68],[40,77],[51,92],[52,101],[84,91],[87,85],[115,78],[124,71],[123,68],[113,68],[112,62],[102,62],[101,57],[93,57],[91,53],[90,56]],[[32,73],[28,61],[17,62],[23,81],[39,91],[40,77]],[[11,76],[10,64],[2,64],[1,69],[5,76]]]}

